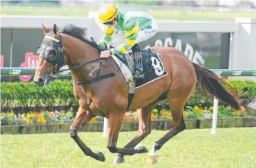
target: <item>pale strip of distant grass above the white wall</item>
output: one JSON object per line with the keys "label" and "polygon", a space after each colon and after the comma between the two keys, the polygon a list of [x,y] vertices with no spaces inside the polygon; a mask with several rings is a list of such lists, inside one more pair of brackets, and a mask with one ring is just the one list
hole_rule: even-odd
{"label": "pale strip of distant grass above the white wall", "polygon": [[[1,6],[1,15],[44,15],[44,16],[72,16],[87,17],[90,11],[96,8],[75,8],[55,6]],[[235,17],[256,17],[256,13],[248,12],[214,12],[189,10],[148,10],[156,20],[179,21],[218,21],[234,22]]]}

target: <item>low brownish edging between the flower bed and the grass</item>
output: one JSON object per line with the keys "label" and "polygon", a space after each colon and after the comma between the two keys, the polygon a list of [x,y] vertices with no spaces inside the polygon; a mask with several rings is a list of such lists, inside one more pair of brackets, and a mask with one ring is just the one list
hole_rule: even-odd
{"label": "low brownish edging between the flower bed and the grass", "polygon": [[[186,129],[211,128],[212,119],[184,119]],[[53,132],[69,132],[71,123],[45,123],[28,125],[1,125],[1,134],[41,134]],[[124,121],[121,131],[136,131],[138,121]],[[172,120],[151,121],[151,130],[170,130]],[[229,117],[220,118],[217,121],[217,128],[239,128],[256,127],[256,117]],[[87,123],[83,125],[79,132],[102,132],[103,122]]]}

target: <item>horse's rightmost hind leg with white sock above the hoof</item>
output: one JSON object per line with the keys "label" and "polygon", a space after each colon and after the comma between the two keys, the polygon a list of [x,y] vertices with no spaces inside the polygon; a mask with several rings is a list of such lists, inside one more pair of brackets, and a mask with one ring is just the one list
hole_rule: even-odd
{"label": "horse's rightmost hind leg with white sock above the hoof", "polygon": [[183,120],[183,107],[186,103],[186,98],[172,99],[168,93],[168,101],[170,103],[172,113],[172,128],[164,137],[153,144],[153,148],[149,152],[149,162],[151,164],[158,161],[159,156],[157,151],[163,146],[163,144],[186,128],[186,124]]}

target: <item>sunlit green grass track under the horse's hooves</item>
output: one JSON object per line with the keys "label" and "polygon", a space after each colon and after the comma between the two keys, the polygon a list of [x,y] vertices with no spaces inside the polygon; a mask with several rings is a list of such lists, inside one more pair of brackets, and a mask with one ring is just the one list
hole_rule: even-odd
{"label": "sunlit green grass track under the horse's hooves", "polygon": [[[185,130],[160,149],[160,159],[149,165],[146,153],[126,156],[116,167],[256,167],[256,128]],[[149,150],[167,131],[153,130],[142,144]],[[136,132],[121,132],[123,146]],[[93,151],[102,151],[106,161],[86,157],[68,133],[42,135],[1,135],[1,167],[115,167],[116,154],[107,150],[102,132],[80,132]]]}

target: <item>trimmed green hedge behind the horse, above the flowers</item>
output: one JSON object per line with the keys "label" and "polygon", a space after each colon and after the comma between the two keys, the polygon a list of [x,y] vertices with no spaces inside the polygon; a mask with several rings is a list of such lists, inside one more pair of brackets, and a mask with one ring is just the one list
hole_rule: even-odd
{"label": "trimmed green hedge behind the horse, above the flowers", "polygon": [[[256,98],[256,82],[252,80],[229,79],[234,86],[239,98],[246,100],[246,103]],[[197,92],[190,98],[188,106],[213,105],[212,98],[199,96]],[[158,105],[158,108],[169,108],[166,101]],[[45,107],[65,107],[66,110],[78,107],[78,102],[73,96],[73,81],[54,80],[47,87],[40,87],[33,82],[2,82],[1,83],[1,110],[2,112],[22,107],[22,112],[45,109]]]}

